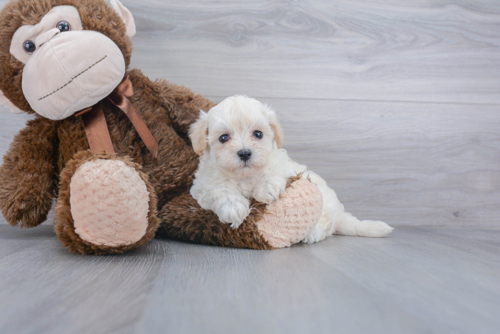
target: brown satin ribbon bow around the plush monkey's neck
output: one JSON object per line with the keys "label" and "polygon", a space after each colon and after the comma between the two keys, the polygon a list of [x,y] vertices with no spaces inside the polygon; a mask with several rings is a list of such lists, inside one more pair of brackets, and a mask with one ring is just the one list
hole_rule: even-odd
{"label": "brown satin ribbon bow around the plush monkey's neck", "polygon": [[[158,156],[158,142],[151,134],[151,131],[147,129],[147,125],[142,120],[142,117],[137,113],[137,110],[128,99],[132,95],[134,95],[134,88],[127,75],[118,87],[109,94],[108,99],[129,117],[147,149],[156,158]],[[83,118],[85,134],[87,135],[92,152],[100,153],[104,150],[105,152],[114,153],[101,101],[92,107],[79,111],[75,115],[82,116]]]}

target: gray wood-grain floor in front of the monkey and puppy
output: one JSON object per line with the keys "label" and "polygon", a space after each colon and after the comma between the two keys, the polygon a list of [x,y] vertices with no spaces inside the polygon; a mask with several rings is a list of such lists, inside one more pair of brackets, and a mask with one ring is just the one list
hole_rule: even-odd
{"label": "gray wood-grain floor in front of the monkey and puppy", "polygon": [[0,332],[496,333],[500,230],[402,227],[274,251],[80,256],[0,226]]}

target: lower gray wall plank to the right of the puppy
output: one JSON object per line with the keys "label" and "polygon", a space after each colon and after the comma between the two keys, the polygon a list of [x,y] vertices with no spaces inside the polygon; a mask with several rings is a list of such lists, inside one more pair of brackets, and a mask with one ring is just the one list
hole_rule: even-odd
{"label": "lower gray wall plank to the right of the puppy", "polygon": [[263,100],[280,116],[290,156],[354,215],[394,226],[499,226],[499,106]]}

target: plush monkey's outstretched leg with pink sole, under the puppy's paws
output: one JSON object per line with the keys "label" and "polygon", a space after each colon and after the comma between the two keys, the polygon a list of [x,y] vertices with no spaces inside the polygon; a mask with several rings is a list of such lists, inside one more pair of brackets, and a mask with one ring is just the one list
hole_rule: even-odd
{"label": "plush monkey's outstretched leg with pink sole, under the puppy's paws", "polygon": [[274,249],[303,240],[317,224],[323,208],[318,187],[291,178],[285,194],[270,205],[253,202],[252,213],[236,229],[199,207],[189,193],[165,204],[157,237],[225,247]]}

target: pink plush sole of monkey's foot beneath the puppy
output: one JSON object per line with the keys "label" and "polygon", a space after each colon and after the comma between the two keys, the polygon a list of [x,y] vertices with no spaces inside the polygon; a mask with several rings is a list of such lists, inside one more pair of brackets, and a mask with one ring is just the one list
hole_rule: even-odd
{"label": "pink plush sole of monkey's foot beneath the puppy", "polygon": [[268,205],[257,228],[272,247],[289,247],[303,240],[316,226],[322,209],[323,196],[318,187],[299,179],[280,200]]}

